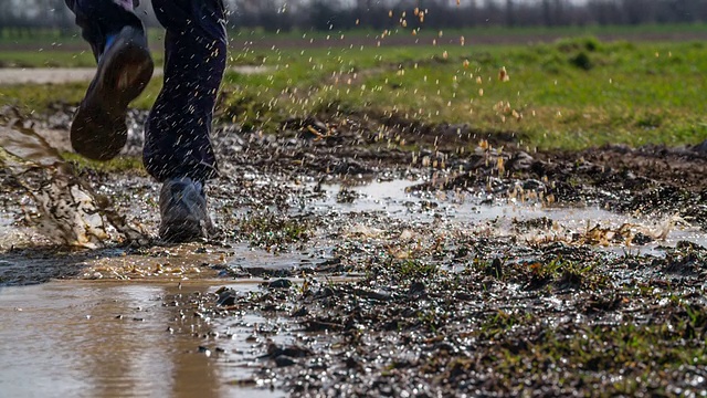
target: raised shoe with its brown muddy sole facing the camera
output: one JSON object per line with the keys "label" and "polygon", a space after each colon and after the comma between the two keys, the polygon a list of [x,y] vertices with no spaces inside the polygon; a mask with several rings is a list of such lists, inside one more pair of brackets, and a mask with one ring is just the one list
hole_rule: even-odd
{"label": "raised shoe with its brown muddy sole facing the camera", "polygon": [[78,154],[109,160],[120,153],[128,137],[128,104],[145,90],[154,69],[144,30],[125,27],[108,36],[71,126],[71,144]]}

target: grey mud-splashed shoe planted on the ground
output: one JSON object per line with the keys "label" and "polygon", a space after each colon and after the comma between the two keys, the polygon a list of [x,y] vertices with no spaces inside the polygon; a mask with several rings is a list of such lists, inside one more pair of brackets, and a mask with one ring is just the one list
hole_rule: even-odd
{"label": "grey mud-splashed shoe planted on the ground", "polygon": [[162,217],[159,237],[167,242],[190,242],[209,238],[214,231],[203,185],[189,177],[175,178],[162,185],[159,210]]}

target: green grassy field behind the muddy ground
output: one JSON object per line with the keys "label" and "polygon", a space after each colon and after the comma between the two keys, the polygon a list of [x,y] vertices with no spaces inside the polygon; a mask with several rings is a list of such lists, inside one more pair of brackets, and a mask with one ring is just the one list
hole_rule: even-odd
{"label": "green grassy field behind the muddy ground", "polygon": [[[272,72],[228,73],[218,115],[272,134],[291,117],[367,115],[466,124],[473,132],[511,134],[520,145],[541,149],[696,144],[707,137],[705,50],[701,42],[582,36],[532,45],[233,51],[232,65],[263,64]],[[1,56],[24,56],[28,65],[36,66],[93,63],[88,53]],[[161,55],[157,57],[160,62]],[[503,70],[508,78],[503,78]],[[135,105],[148,108],[159,86],[155,80]],[[0,104],[42,112],[57,101],[77,103],[84,87],[3,86]]]}

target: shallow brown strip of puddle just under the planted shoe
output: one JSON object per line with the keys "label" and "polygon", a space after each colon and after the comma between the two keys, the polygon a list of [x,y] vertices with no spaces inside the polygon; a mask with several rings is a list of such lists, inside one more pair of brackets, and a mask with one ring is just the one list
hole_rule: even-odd
{"label": "shallow brown strip of puddle just under the planted shoe", "polygon": [[[17,235],[9,233],[6,239]],[[15,240],[19,242],[19,240]],[[27,244],[28,241],[24,241]],[[6,250],[8,250],[6,248]],[[93,251],[39,245],[0,253],[0,286],[32,285],[56,279],[180,282],[310,273],[321,259],[300,252],[272,253],[249,244],[109,248]]]}

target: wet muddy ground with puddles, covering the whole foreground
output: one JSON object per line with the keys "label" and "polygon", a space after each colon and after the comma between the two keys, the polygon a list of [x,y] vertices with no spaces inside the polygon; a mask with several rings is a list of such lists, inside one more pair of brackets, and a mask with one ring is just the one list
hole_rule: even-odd
{"label": "wet muddy ground with puddles, covering the whole foreground", "polygon": [[[531,153],[464,128],[356,115],[277,136],[221,126],[221,232],[184,245],[152,235],[159,187],[139,170],[6,167],[0,387],[707,394],[700,148]],[[389,139],[401,136],[419,149]],[[36,232],[54,210],[32,187],[110,198],[97,208],[124,227],[106,216],[104,244],[71,230],[60,240],[89,249],[56,244]]]}

